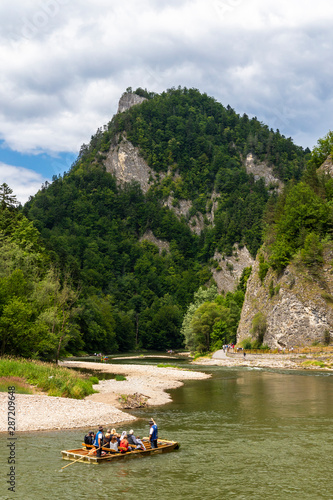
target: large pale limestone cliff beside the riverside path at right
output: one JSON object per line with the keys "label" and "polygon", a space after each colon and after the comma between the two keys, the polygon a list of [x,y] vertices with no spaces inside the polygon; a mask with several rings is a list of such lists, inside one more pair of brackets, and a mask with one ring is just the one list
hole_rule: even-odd
{"label": "large pale limestone cliff beside the riverside path at right", "polygon": [[[290,264],[279,278],[270,269],[261,283],[256,260],[247,283],[237,342],[252,337],[257,313],[266,319],[264,344],[271,348],[310,346],[333,338],[333,245],[324,250],[324,265],[313,277]],[[271,286],[270,286],[271,285]]]}

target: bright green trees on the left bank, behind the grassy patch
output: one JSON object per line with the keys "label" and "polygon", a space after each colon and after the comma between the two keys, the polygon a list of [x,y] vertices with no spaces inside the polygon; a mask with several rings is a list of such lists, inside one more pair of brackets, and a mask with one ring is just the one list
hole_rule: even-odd
{"label": "bright green trees on the left bank, behind the grassy patch", "polygon": [[49,264],[40,235],[26,217],[0,209],[1,354],[59,359],[80,334],[72,323],[78,298]]}

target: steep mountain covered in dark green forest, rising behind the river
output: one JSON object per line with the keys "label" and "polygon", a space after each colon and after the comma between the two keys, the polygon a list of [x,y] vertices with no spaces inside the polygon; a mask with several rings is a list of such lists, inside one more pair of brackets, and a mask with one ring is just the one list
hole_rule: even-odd
{"label": "steep mountain covered in dark green forest, rising behind the river", "polygon": [[[277,185],[247,172],[248,155],[283,183],[298,181],[306,163],[308,151],[291,139],[195,89],[135,94],[146,99],[99,129],[70,171],[23,208],[61,286],[70,282],[78,294],[68,331],[79,334],[72,340],[68,334],[69,352],[183,346],[188,307],[214,284],[214,253],[230,255],[238,244],[255,257],[265,207],[276,204]],[[152,171],[145,192],[106,171],[110,149],[123,140]],[[177,214],[183,200],[189,212]],[[194,231],[199,216],[203,227]],[[163,240],[163,250],[147,232]],[[212,342],[200,340],[202,349],[235,340],[248,274],[235,294],[215,298],[213,308],[196,302],[211,321],[194,318],[198,338],[214,330]]]}

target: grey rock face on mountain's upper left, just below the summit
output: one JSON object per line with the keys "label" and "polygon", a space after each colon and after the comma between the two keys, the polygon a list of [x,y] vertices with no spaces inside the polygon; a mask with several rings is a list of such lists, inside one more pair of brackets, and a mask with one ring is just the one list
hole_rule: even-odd
{"label": "grey rock face on mountain's upper left, just below the summit", "polygon": [[148,191],[150,181],[156,177],[154,171],[140,156],[139,149],[127,140],[125,134],[122,138],[119,135],[116,137],[104,165],[106,171],[115,175],[120,184],[137,181],[144,193]]}

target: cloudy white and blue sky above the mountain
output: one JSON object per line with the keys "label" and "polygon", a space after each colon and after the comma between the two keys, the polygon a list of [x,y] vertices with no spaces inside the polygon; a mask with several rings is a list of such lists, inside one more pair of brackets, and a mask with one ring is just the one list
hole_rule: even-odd
{"label": "cloudy white and blue sky above the mountain", "polygon": [[0,3],[0,184],[68,171],[127,87],[197,88],[309,147],[332,130],[333,2]]}

